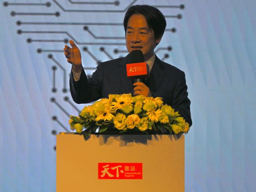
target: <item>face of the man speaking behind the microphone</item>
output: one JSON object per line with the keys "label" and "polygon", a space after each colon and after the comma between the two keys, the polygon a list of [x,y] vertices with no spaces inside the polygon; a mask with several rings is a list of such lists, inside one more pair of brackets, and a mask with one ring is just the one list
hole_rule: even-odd
{"label": "face of the man speaking behind the microphone", "polygon": [[148,27],[143,15],[134,14],[127,22],[125,40],[129,53],[135,49],[141,50],[147,61],[153,56],[156,43],[159,43],[161,39],[155,39],[154,31]]}

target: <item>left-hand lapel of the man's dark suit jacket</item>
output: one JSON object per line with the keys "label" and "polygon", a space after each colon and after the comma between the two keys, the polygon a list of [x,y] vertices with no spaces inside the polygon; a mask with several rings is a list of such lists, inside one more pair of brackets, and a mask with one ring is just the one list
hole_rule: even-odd
{"label": "left-hand lapel of the man's dark suit jacket", "polygon": [[119,72],[119,78],[121,79],[122,87],[124,88],[126,93],[133,93],[134,87],[132,79],[127,78],[126,73],[126,64],[130,63],[130,55],[128,54],[126,57],[124,57],[118,65],[118,72]]}

